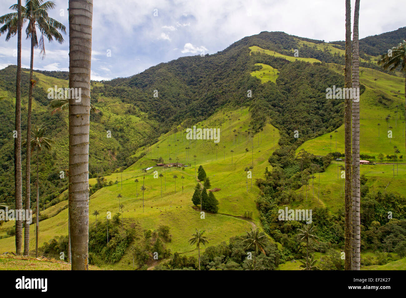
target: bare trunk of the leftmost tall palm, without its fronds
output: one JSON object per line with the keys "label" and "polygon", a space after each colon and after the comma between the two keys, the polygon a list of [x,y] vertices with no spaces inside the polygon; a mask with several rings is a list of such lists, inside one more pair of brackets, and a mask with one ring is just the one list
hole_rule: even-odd
{"label": "bare trunk of the leftmost tall palm, without its fronds", "polygon": [[[17,8],[17,76],[15,86],[15,131],[14,138],[14,198],[15,209],[22,210],[22,172],[21,172],[21,0],[18,0]],[[15,253],[21,255],[23,222],[15,221]]]}

